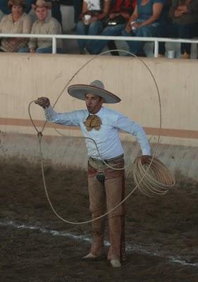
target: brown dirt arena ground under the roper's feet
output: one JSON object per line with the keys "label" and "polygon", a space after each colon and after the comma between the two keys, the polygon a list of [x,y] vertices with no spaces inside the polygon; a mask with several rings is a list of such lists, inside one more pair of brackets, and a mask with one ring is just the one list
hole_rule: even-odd
{"label": "brown dirt arena ground under the roper's feet", "polygon": [[[178,180],[165,196],[138,190],[127,201],[128,259],[112,269],[89,251],[90,224],[73,226],[51,211],[39,166],[0,164],[1,282],[197,282],[198,183]],[[45,167],[49,197],[70,221],[90,219],[85,171]],[[134,187],[127,181],[127,193]],[[108,246],[106,246],[106,252]]]}

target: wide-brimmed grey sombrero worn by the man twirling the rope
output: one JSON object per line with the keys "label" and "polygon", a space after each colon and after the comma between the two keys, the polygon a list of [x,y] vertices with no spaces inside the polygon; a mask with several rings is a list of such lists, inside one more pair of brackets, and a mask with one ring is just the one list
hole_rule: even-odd
{"label": "wide-brimmed grey sombrero worn by the man twirling the rope", "polygon": [[100,80],[94,80],[90,85],[75,84],[68,87],[68,93],[77,99],[85,100],[86,94],[94,94],[104,99],[104,103],[115,104],[121,99],[115,94],[104,89],[104,84]]}

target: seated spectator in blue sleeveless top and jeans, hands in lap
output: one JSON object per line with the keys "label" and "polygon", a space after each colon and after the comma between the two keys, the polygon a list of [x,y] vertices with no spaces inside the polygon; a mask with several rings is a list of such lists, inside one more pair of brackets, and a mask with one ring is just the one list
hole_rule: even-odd
{"label": "seated spectator in blue sleeveless top and jeans, hands in lap", "polygon": [[[156,37],[163,3],[163,0],[137,0],[135,11],[130,16],[122,35]],[[144,44],[143,41],[128,42],[130,52],[137,56],[143,51]]]}

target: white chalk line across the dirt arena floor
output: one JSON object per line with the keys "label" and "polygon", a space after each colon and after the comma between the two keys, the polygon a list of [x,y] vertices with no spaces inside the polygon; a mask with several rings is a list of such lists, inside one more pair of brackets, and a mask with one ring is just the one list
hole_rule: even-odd
{"label": "white chalk line across the dirt arena floor", "polygon": [[[29,230],[35,230],[35,231],[39,231],[41,233],[47,233],[49,235],[53,235],[53,236],[65,236],[67,238],[70,238],[72,240],[81,240],[84,242],[88,242],[91,243],[92,239],[86,237],[85,235],[74,235],[71,233],[68,233],[66,231],[56,231],[56,230],[50,230],[48,228],[44,228],[44,227],[39,227],[39,226],[30,226],[30,225],[26,225],[26,224],[18,224],[15,223],[14,221],[6,221],[6,222],[1,222],[0,221],[0,226],[11,226],[13,228],[18,228],[18,229],[29,229]],[[104,241],[104,245],[109,246],[109,242],[108,241]],[[140,245],[126,245],[126,250],[128,252],[140,252],[146,255],[151,255],[151,256],[155,256],[155,257],[163,257],[162,255],[159,254],[159,252],[149,252],[147,250],[144,249],[144,247],[141,247]],[[176,262],[178,264],[182,264],[182,265],[188,265],[188,266],[195,266],[198,267],[198,263],[194,263],[191,264],[189,262],[185,262],[185,260],[180,259],[180,257],[163,257],[165,259],[169,259],[170,262]]]}

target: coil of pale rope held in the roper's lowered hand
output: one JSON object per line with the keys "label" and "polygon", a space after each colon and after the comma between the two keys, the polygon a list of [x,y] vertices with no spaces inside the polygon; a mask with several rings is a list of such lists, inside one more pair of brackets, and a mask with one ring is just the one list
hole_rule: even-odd
{"label": "coil of pale rope held in the roper's lowered hand", "polygon": [[159,159],[151,158],[146,164],[135,159],[132,170],[137,188],[147,197],[164,195],[175,185],[175,177]]}

